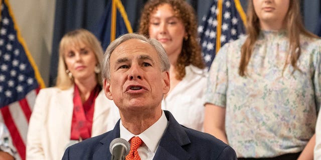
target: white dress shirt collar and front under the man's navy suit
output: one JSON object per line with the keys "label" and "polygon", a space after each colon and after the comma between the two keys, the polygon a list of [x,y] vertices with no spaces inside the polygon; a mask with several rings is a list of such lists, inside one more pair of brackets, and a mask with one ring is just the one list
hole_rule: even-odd
{"label": "white dress shirt collar and front under the man's navy suit", "polygon": [[167,127],[168,120],[162,111],[162,116],[150,127],[142,133],[135,135],[128,131],[120,120],[119,129],[120,137],[129,141],[133,136],[139,136],[143,143],[138,147],[137,151],[142,160],[152,160],[158,148],[159,141]]}

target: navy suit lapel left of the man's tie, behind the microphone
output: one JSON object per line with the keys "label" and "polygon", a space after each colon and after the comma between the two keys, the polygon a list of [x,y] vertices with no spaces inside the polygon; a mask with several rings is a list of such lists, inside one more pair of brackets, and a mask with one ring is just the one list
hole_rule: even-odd
{"label": "navy suit lapel left of the man's tie, behind the microphone", "polygon": [[108,134],[100,140],[100,143],[102,144],[95,152],[93,155],[93,160],[98,160],[98,159],[110,159],[111,153],[109,151],[109,145],[110,142],[119,137],[119,121],[117,121],[115,127],[113,130],[109,131]]}

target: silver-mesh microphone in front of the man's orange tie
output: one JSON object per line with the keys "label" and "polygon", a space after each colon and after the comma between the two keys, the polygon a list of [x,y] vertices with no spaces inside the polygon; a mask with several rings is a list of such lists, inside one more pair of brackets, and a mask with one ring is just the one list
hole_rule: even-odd
{"label": "silver-mesh microphone in front of the man's orange tie", "polygon": [[116,138],[110,142],[109,151],[111,153],[111,160],[125,160],[129,150],[130,144],[123,138]]}

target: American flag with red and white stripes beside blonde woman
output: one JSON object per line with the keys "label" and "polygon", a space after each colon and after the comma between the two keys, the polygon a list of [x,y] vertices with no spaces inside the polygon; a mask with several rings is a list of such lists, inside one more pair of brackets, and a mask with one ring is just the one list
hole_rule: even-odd
{"label": "American flag with red and white stripes beside blonde woman", "polygon": [[1,4],[0,122],[8,127],[16,159],[25,159],[29,118],[44,82],[15,23],[8,0]]}

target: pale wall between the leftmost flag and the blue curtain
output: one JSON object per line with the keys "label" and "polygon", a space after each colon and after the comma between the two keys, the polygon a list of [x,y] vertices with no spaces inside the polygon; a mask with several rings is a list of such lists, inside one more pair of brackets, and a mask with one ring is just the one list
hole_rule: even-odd
{"label": "pale wall between the leftmost flag and the blue curtain", "polygon": [[21,34],[47,86],[56,0],[9,0],[9,2]]}

